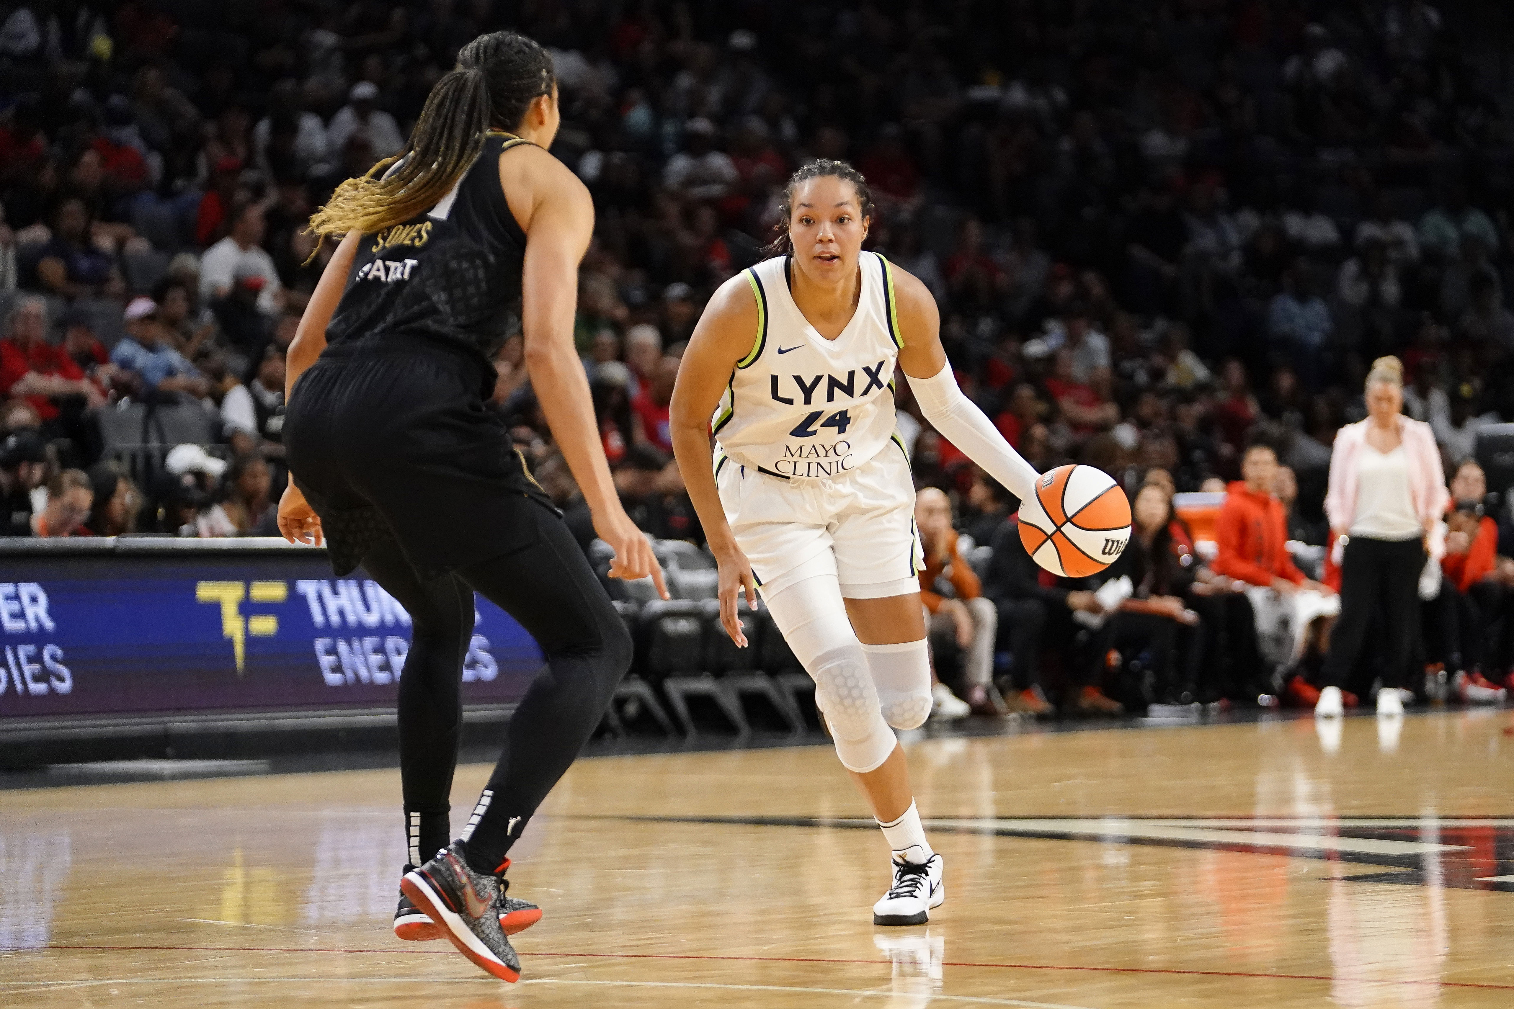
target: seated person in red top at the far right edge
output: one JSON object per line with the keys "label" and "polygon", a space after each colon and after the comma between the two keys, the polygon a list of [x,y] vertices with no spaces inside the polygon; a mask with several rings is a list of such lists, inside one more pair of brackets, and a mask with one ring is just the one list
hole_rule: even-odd
{"label": "seated person in red top at the far right edge", "polygon": [[[1511,561],[1499,558],[1499,525],[1484,513],[1488,480],[1476,460],[1456,467],[1446,510],[1446,555],[1440,560],[1440,595],[1425,604],[1428,643],[1464,699],[1497,700],[1509,663],[1508,631],[1494,643],[1491,631],[1514,617]],[[1509,676],[1514,679],[1514,676]]]}

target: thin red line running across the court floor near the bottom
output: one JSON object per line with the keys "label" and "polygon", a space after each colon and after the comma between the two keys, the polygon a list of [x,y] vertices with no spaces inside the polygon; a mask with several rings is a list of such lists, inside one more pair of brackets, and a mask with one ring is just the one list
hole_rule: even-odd
{"label": "thin red line running across the court floor near the bottom", "polygon": [[[341,950],[322,947],[279,945],[12,945],[0,947],[0,953],[27,953],[42,950],[138,950],[168,953],[382,953],[385,956],[456,956],[453,950]],[[824,956],[719,956],[707,953],[537,953],[530,956],[566,956],[578,959],[628,959],[628,961],[745,961],[760,964],[883,964],[880,959],[846,959]],[[942,961],[942,967],[980,967],[1016,971],[1086,971],[1098,974],[1169,974],[1179,977],[1246,977],[1257,980],[1354,980],[1369,985],[1414,985],[1434,988],[1481,988],[1490,991],[1514,991],[1514,985],[1493,985],[1467,980],[1379,980],[1375,977],[1341,977],[1337,974],[1263,974],[1260,971],[1199,971],[1172,967],[1073,967],[1067,964],[975,964],[969,961]]]}

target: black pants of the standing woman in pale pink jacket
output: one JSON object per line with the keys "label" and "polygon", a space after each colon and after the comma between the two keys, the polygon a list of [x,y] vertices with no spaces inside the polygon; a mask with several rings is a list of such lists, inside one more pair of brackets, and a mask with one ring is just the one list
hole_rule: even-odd
{"label": "black pants of the standing woman in pale pink jacket", "polygon": [[1323,681],[1344,687],[1367,641],[1367,631],[1382,629],[1382,685],[1405,687],[1419,632],[1419,576],[1425,545],[1413,540],[1370,540],[1354,536],[1340,564],[1340,619],[1329,638]]}

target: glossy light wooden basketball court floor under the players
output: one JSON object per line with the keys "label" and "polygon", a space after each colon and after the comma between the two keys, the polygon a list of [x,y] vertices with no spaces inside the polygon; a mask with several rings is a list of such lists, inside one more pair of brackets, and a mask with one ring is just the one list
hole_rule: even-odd
{"label": "glossy light wooden basketball court floor under the players", "polygon": [[6,791],[0,1004],[1509,1006],[1508,723],[921,740],[948,900],[916,929],[871,924],[886,852],[830,749],[587,759],[513,853],[518,985],[391,933],[397,771]]}

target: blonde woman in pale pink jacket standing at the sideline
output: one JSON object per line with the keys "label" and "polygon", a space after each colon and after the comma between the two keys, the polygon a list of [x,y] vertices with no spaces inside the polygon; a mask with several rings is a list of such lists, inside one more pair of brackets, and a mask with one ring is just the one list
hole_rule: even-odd
{"label": "blonde woman in pale pink jacket standing at the sideline", "polygon": [[1361,654],[1373,617],[1381,617],[1387,666],[1378,714],[1399,714],[1396,687],[1408,682],[1419,626],[1419,576],[1431,529],[1449,493],[1429,425],[1403,408],[1403,365],[1379,357],[1367,375],[1367,419],[1335,436],[1325,514],[1341,566],[1340,620],[1325,660],[1316,716],[1341,714],[1341,685]]}

